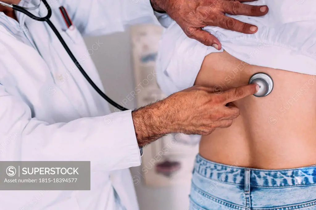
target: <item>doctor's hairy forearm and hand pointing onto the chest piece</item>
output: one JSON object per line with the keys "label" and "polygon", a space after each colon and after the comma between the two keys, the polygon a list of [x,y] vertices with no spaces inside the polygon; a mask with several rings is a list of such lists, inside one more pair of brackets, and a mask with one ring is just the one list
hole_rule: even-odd
{"label": "doctor's hairy forearm and hand pointing onto the chest piece", "polygon": [[251,84],[224,92],[194,86],[132,112],[140,147],[169,133],[209,135],[227,128],[239,116],[232,103],[257,92]]}

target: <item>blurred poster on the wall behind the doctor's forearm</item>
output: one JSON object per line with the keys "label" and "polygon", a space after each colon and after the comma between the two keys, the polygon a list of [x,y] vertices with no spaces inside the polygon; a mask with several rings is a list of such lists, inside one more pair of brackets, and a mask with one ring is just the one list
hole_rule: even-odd
{"label": "blurred poster on the wall behind the doctor's forearm", "polygon": [[[137,106],[166,96],[156,81],[155,64],[163,28],[156,25],[131,27]],[[199,136],[170,134],[144,148],[141,176],[149,186],[190,184]]]}

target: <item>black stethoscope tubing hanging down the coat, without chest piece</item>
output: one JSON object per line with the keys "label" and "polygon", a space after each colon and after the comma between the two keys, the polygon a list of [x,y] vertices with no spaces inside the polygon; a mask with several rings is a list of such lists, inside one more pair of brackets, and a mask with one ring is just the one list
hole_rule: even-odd
{"label": "black stethoscope tubing hanging down the coat, without chest piece", "polygon": [[[33,15],[32,13],[30,13],[28,10],[34,10],[34,9],[38,9],[40,7],[41,3],[44,3],[47,9],[47,15],[45,17],[37,17],[35,15]],[[102,92],[102,90],[100,90],[98,88],[97,85],[95,85],[95,83],[91,80],[91,78],[88,76],[88,74],[84,71],[84,69],[82,68],[82,66],[80,65],[80,63],[77,61],[76,57],[72,54],[71,50],[69,49],[69,47],[67,46],[66,42],[64,41],[64,39],[62,38],[62,36],[60,35],[60,33],[58,32],[57,28],[54,26],[54,24],[49,20],[50,17],[52,16],[52,10],[51,7],[48,5],[46,0],[40,0],[40,3],[34,7],[21,7],[18,6],[16,4],[8,4],[5,2],[0,1],[0,5],[3,5],[5,7],[9,7],[11,9],[14,9],[16,11],[19,11],[27,16],[29,16],[30,18],[34,19],[34,20],[38,20],[38,21],[42,21],[42,22],[46,22],[51,29],[53,30],[53,32],[56,34],[56,36],[58,37],[60,43],[63,45],[64,49],[67,51],[68,55],[70,56],[71,60],[75,63],[76,67],[79,69],[79,71],[82,73],[82,75],[87,79],[87,81],[90,83],[90,85],[94,88],[94,90],[96,90],[100,96],[102,98],[104,98],[107,102],[109,102],[112,106],[122,110],[122,111],[126,111],[128,109],[122,107],[121,105],[117,104],[116,102],[114,102],[111,98],[109,98],[108,96],[106,96],[105,93]]]}

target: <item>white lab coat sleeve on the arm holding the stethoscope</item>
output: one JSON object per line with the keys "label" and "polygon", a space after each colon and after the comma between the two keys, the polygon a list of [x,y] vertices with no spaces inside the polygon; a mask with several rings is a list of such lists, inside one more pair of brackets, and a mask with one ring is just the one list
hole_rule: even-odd
{"label": "white lab coat sleeve on the arm holding the stethoscope", "polygon": [[0,116],[1,161],[81,160],[106,171],[141,163],[131,111],[49,124],[0,85]]}

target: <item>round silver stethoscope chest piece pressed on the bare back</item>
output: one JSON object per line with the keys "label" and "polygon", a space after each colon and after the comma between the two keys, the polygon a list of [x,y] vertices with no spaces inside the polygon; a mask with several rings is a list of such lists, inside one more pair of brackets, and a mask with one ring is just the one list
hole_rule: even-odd
{"label": "round silver stethoscope chest piece pressed on the bare back", "polygon": [[256,73],[252,75],[249,84],[257,84],[260,89],[257,93],[253,94],[256,97],[264,97],[270,94],[273,89],[273,80],[266,73]]}

